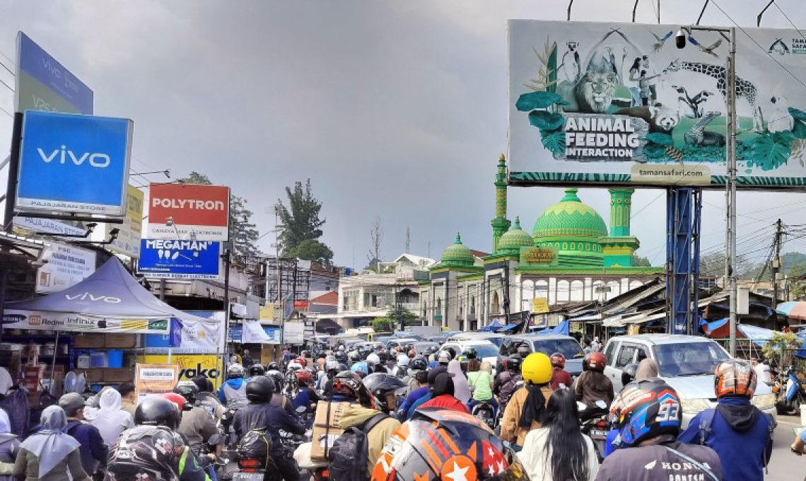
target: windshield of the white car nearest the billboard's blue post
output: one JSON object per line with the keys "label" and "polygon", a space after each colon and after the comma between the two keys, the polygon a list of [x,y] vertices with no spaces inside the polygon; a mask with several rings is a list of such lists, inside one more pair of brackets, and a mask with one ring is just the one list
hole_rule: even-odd
{"label": "windshield of the white car nearest the billboard's blue post", "polygon": [[667,378],[713,374],[717,365],[729,358],[716,342],[659,344],[652,347],[652,352],[660,375]]}

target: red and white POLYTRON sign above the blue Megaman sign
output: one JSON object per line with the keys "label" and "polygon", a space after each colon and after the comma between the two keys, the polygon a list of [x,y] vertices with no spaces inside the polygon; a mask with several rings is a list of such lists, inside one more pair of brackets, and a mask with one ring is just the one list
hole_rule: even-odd
{"label": "red and white POLYTRON sign above the blue Megaman sign", "polygon": [[230,188],[152,184],[148,239],[229,240]]}

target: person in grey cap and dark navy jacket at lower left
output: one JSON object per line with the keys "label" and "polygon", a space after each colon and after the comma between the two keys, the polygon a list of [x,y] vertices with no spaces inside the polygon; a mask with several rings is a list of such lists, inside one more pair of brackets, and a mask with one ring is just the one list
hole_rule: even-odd
{"label": "person in grey cap and dark navy jacket at lower left", "polygon": [[77,392],[69,392],[59,398],[59,407],[64,409],[67,416],[67,433],[80,444],[81,467],[88,475],[95,476],[106,466],[109,446],[103,441],[98,428],[84,420],[84,398]]}

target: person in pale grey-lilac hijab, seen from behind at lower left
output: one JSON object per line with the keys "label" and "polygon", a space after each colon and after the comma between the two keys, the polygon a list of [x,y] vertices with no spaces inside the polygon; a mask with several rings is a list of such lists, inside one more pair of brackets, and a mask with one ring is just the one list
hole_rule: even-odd
{"label": "person in pale grey-lilac hijab, seen from behind at lower left", "polygon": [[25,481],[90,481],[81,467],[79,443],[67,433],[67,415],[59,406],[42,412],[41,429],[19,445],[14,476]]}

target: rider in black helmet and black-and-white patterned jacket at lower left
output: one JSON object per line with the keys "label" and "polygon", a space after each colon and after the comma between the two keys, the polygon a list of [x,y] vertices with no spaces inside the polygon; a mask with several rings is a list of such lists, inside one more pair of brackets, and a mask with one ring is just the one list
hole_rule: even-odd
{"label": "rider in black helmet and black-and-white patterned jacket at lower left", "polygon": [[135,427],[123,431],[110,450],[105,481],[175,479],[177,475],[180,481],[209,481],[177,433],[180,420],[181,412],[172,401],[143,399],[135,410]]}

